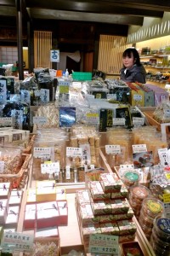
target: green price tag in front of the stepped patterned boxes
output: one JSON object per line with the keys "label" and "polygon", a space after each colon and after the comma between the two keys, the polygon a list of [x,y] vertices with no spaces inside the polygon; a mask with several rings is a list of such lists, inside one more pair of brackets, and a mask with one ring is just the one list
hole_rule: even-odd
{"label": "green price tag in front of the stepped patterned boxes", "polygon": [[90,235],[89,251],[94,254],[112,254],[119,255],[118,236],[107,236],[101,234]]}

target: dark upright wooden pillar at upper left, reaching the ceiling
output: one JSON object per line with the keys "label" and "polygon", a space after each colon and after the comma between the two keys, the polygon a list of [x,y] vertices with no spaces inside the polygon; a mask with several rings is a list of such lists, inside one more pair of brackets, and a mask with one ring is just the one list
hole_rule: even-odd
{"label": "dark upright wooden pillar at upper left, reaching the ceiling", "polygon": [[23,42],[22,42],[22,0],[15,0],[16,4],[16,26],[17,26],[17,47],[18,47],[18,63],[19,63],[19,79],[24,79],[23,67]]}

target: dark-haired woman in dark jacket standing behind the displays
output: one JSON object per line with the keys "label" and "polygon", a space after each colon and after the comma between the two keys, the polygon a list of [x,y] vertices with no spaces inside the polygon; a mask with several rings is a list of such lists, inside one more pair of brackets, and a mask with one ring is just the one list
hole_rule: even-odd
{"label": "dark-haired woman in dark jacket standing behind the displays", "polygon": [[122,54],[123,67],[121,79],[125,82],[145,84],[146,72],[140,63],[139,52],[134,48],[126,49]]}

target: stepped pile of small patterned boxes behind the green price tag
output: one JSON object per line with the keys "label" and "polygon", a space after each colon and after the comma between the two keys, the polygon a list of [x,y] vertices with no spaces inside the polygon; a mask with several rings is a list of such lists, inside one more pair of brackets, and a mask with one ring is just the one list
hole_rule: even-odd
{"label": "stepped pile of small patterned boxes behind the green price tag", "polygon": [[77,216],[87,253],[91,234],[119,236],[119,242],[134,240],[137,228],[126,197],[127,189],[115,173],[100,173],[99,181],[77,191]]}

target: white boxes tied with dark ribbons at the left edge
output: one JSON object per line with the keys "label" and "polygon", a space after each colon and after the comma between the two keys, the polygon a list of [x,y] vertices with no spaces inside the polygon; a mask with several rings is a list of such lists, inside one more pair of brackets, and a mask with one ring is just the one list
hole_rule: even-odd
{"label": "white boxes tied with dark ribbons at the left edge", "polygon": [[[22,190],[11,190],[10,183],[0,183],[0,234],[16,229],[19,221]],[[0,239],[1,239],[0,235]]]}

